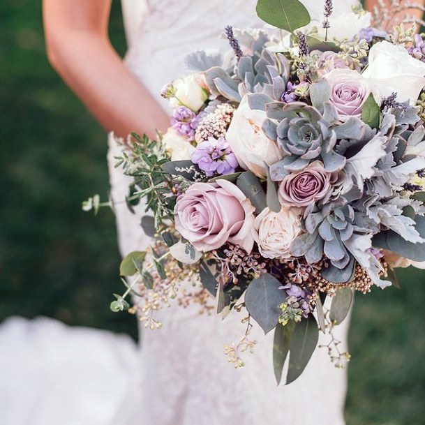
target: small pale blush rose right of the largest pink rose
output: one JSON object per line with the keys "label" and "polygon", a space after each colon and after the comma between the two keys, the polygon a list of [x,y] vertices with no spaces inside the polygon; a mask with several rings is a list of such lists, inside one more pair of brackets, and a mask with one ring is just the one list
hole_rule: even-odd
{"label": "small pale blush rose right of the largest pink rose", "polygon": [[282,208],[275,213],[265,208],[255,218],[254,239],[265,258],[290,258],[290,245],[301,233],[301,221],[291,209]]}

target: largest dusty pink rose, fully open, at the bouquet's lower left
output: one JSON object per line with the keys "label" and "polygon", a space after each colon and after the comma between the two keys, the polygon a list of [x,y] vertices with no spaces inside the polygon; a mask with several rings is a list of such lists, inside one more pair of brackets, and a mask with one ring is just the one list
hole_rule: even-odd
{"label": "largest dusty pink rose, fully open, at the bouquet's lower left", "polygon": [[195,183],[174,208],[177,232],[198,251],[220,248],[226,242],[253,249],[255,208],[241,190],[227,180]]}

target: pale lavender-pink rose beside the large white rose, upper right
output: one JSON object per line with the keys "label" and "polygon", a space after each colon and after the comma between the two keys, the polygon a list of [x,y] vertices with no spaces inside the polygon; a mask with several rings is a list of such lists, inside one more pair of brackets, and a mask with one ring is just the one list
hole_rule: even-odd
{"label": "pale lavender-pink rose beside the large white rose, upper right", "polygon": [[368,82],[352,69],[334,69],[325,78],[331,85],[330,101],[341,121],[347,121],[350,117],[360,118],[361,107],[371,94]]}

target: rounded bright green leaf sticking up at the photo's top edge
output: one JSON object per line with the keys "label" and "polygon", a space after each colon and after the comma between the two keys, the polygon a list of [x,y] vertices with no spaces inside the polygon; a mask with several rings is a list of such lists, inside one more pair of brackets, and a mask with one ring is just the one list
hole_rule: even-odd
{"label": "rounded bright green leaf sticking up at the photo's top edge", "polygon": [[299,0],[258,0],[257,15],[274,27],[294,33],[311,21],[310,14]]}

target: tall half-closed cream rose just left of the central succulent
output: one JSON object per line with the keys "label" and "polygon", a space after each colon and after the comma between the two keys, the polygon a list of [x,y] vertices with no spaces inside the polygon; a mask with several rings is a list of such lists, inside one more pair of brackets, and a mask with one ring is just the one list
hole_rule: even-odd
{"label": "tall half-closed cream rose just left of the central succulent", "polygon": [[265,177],[267,169],[264,163],[277,163],[283,155],[276,142],[262,131],[266,112],[252,110],[248,105],[248,96],[244,96],[234,112],[225,138],[242,168],[252,171],[258,177]]}

